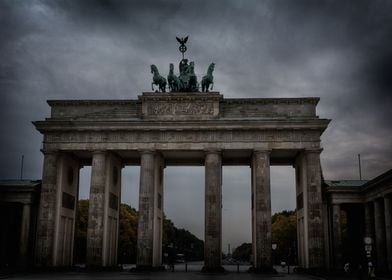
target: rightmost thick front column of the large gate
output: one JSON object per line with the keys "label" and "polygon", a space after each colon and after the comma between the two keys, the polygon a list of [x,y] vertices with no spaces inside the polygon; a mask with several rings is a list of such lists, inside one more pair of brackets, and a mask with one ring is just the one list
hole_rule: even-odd
{"label": "rightmost thick front column of the large gate", "polygon": [[322,191],[320,152],[306,150],[306,213],[308,232],[309,268],[323,268],[324,263],[324,232],[322,215]]}

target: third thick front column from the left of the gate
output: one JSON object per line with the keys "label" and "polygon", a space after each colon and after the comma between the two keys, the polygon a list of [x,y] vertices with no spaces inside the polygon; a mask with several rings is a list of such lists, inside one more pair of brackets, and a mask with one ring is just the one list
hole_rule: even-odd
{"label": "third thick front column from the left of the gate", "polygon": [[162,266],[163,159],[155,151],[141,151],[137,269]]}

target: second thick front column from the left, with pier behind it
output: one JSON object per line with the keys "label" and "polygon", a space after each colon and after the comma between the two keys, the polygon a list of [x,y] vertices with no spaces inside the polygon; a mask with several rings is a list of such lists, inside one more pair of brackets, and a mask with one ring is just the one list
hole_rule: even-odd
{"label": "second thick front column from the left, with pier behind it", "polygon": [[89,220],[87,229],[87,265],[110,267],[117,264],[121,161],[114,155],[93,153]]}

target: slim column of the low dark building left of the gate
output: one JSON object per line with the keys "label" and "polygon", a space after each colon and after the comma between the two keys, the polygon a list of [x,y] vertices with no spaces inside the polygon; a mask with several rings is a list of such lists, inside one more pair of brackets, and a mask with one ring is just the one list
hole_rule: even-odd
{"label": "slim column of the low dark building left of the gate", "polygon": [[22,209],[22,221],[20,227],[20,245],[19,245],[19,256],[20,256],[20,267],[24,270],[28,263],[28,252],[29,252],[29,241],[30,241],[30,221],[31,217],[31,205],[29,203],[23,204]]}

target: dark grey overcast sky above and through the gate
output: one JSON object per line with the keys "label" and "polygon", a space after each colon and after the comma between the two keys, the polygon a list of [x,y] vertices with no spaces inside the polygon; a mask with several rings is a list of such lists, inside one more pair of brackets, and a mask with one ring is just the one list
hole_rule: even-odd
{"label": "dark grey overcast sky above and through the gate", "polygon": [[[47,99],[135,99],[150,64],[166,75],[179,62],[186,35],[199,79],[215,62],[226,98],[321,98],[326,179],[358,179],[359,153],[365,179],[392,168],[392,1],[0,0],[0,179],[20,177],[21,155],[24,178],[41,178],[31,121],[49,116]],[[123,172],[122,200],[136,208],[138,170]],[[226,248],[250,241],[250,168],[223,173]],[[201,167],[166,169],[165,212],[200,238],[203,182]],[[272,168],[272,196],[273,211],[295,208],[291,167]]]}

